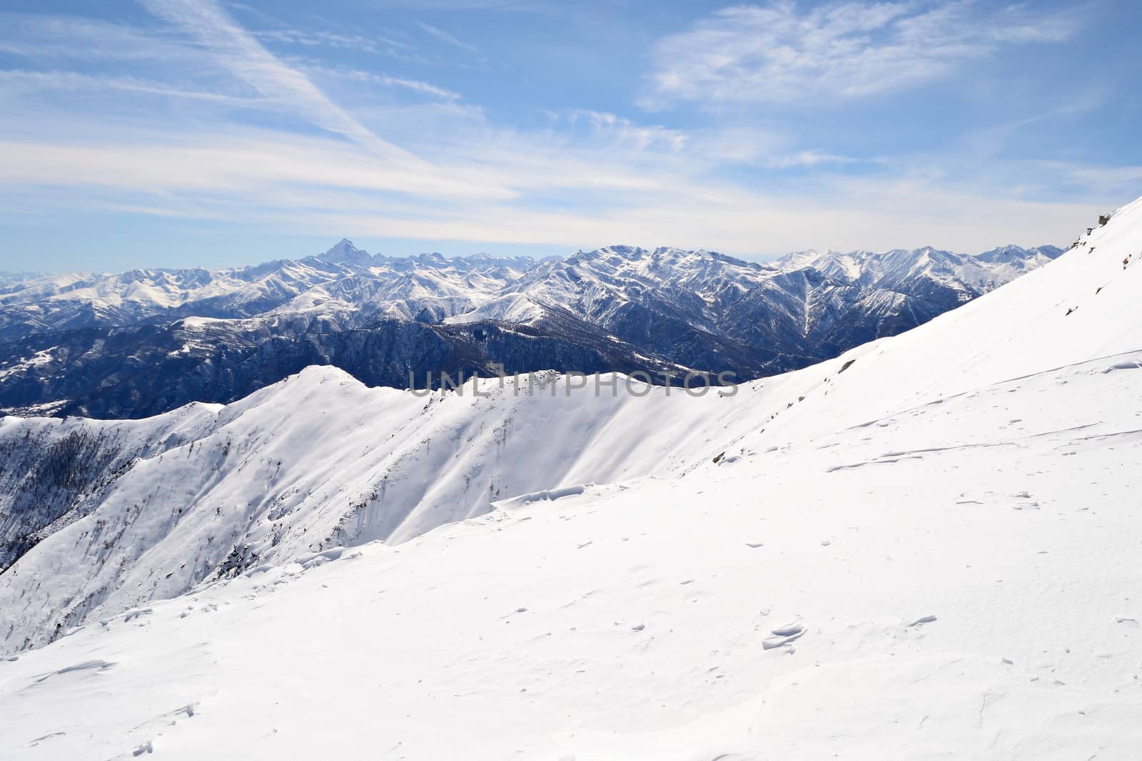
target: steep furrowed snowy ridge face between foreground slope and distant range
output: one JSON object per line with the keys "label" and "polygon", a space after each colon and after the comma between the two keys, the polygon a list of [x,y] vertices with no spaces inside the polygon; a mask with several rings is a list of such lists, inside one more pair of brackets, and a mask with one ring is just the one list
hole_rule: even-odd
{"label": "steep furrowed snowy ridge face between foreground slope and distant range", "polygon": [[[716,390],[602,380],[617,388],[595,396],[547,373],[423,397],[311,367],[154,422],[3,419],[0,451],[21,458],[0,470],[18,483],[0,516],[8,554],[23,552],[0,576],[0,607],[21,610],[5,649],[255,565],[400,542],[502,497],[677,472],[711,456],[703,424],[745,430]],[[93,453],[62,458],[66,445]]]}

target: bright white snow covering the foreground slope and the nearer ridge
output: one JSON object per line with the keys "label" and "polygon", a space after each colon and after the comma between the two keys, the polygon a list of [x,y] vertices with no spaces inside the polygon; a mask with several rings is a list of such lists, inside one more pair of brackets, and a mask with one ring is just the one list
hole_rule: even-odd
{"label": "bright white snow covering the foreground slope and the nearer ridge", "polygon": [[138,454],[0,575],[0,758],[1139,758],[1140,257],[732,397],[6,421]]}

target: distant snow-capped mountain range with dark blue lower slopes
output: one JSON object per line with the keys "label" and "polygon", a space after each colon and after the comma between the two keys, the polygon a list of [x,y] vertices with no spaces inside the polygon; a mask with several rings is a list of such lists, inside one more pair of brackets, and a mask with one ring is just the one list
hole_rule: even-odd
{"label": "distant snow-capped mountain range with dark blue lower slopes", "polygon": [[232,402],[314,364],[395,388],[497,365],[761,378],[915,327],[1060,253],[445,259],[341,241],[239,269],[39,277],[0,289],[0,411],[140,418]]}

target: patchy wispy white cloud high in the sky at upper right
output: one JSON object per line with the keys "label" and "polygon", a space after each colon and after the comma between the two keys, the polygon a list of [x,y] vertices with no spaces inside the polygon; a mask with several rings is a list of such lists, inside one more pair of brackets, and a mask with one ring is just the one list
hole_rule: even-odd
{"label": "patchy wispy white cloud high in the sky at upper right", "polygon": [[829,104],[914,87],[1002,46],[1057,42],[1075,31],[1072,14],[988,10],[973,0],[735,6],[656,46],[642,105]]}

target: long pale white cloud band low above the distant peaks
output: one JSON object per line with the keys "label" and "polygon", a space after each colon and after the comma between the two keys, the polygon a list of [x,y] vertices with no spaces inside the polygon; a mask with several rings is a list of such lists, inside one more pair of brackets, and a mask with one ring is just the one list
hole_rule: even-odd
{"label": "long pale white cloud band low above the distant peaks", "polygon": [[[332,237],[569,250],[634,242],[738,254],[925,244],[981,251],[1004,242],[1064,243],[1107,210],[1101,204],[1126,199],[1124,186],[1136,185],[1142,171],[1021,164],[981,187],[925,168],[896,168],[891,179],[830,176],[825,169],[834,157],[779,153],[769,161],[815,163],[814,175],[756,188],[710,173],[706,136],[690,136],[690,147],[678,151],[668,143],[637,148],[605,129],[595,135],[594,127],[569,137],[494,129],[472,114],[457,119],[424,137],[435,148],[427,171],[330,138],[232,127],[177,140],[136,132],[130,141],[0,143],[0,213],[23,213],[9,200],[51,187],[56,203],[71,209],[131,209]],[[1023,201],[1005,185],[1049,177],[1086,184],[1094,203]],[[37,197],[35,211],[45,203]]]}

